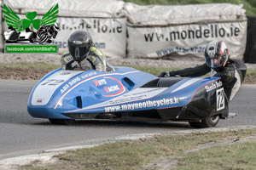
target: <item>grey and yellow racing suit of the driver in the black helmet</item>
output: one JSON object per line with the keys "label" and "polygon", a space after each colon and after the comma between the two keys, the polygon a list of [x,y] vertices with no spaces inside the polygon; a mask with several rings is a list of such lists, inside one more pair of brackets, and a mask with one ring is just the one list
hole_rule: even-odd
{"label": "grey and yellow racing suit of the driver in the black helmet", "polygon": [[85,59],[77,62],[73,59],[73,56],[68,52],[61,57],[62,70],[79,70],[88,71],[94,69],[96,71],[114,71],[112,65],[110,65],[102,52],[95,48],[90,47],[90,52]]}

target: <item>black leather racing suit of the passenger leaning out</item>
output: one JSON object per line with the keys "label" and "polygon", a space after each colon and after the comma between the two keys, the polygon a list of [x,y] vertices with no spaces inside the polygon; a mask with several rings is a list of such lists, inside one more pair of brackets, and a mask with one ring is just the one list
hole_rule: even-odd
{"label": "black leather racing suit of the passenger leaning out", "polygon": [[[211,72],[211,68],[207,66],[205,63],[204,65],[198,65],[194,68],[187,68],[180,71],[171,71],[170,74],[172,76],[179,75],[181,77],[201,77],[203,75],[206,75],[207,73]],[[213,74],[214,77],[221,77],[223,85],[224,85],[224,92],[229,100],[230,95],[232,93],[232,89],[234,88],[237,78],[236,74],[236,61],[229,59],[227,64],[219,71],[216,71],[217,73]],[[236,75],[236,76],[235,76]],[[239,80],[239,86],[241,85],[241,81]],[[234,94],[235,95],[235,94]],[[234,97],[232,95],[232,98]]]}

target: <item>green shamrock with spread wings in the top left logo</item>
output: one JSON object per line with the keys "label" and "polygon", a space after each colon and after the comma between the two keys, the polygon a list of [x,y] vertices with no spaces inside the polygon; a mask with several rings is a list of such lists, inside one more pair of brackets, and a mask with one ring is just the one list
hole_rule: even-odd
{"label": "green shamrock with spread wings in the top left logo", "polygon": [[8,26],[11,26],[15,31],[24,31],[26,28],[30,30],[38,30],[40,26],[54,26],[59,13],[58,3],[55,4],[49,11],[44,14],[42,20],[35,19],[38,13],[36,11],[27,12],[26,19],[20,20],[20,17],[15,14],[12,8],[3,3],[3,18]]}

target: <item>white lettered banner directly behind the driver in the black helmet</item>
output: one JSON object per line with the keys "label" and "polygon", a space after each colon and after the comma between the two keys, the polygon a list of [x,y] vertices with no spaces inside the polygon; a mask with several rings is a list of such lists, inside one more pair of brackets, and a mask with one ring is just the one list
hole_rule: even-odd
{"label": "white lettered banner directly behind the driver in the black helmet", "polygon": [[96,48],[111,58],[124,58],[126,49],[126,19],[58,17],[60,31],[54,40],[59,53],[67,50],[67,39],[76,30],[89,31]]}

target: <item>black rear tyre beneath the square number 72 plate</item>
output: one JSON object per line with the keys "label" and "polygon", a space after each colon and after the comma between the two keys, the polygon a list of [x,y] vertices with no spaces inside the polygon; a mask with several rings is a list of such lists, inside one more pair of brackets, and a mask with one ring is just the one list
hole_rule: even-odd
{"label": "black rear tyre beneath the square number 72 plate", "polygon": [[195,128],[206,128],[206,127],[215,127],[218,124],[219,116],[209,116],[201,122],[189,122],[191,127]]}

